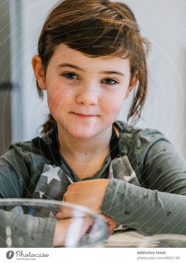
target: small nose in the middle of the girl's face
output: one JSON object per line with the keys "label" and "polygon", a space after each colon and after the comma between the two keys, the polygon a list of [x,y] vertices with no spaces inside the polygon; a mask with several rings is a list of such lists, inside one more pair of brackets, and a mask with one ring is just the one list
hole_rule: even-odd
{"label": "small nose in the middle of the girl's face", "polygon": [[77,91],[76,101],[81,105],[97,104],[98,95],[96,84],[82,85],[82,87]]}

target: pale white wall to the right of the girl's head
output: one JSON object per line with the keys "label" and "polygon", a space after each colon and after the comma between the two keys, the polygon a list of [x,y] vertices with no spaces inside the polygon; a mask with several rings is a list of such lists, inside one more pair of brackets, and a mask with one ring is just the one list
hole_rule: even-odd
{"label": "pale white wall to the right of the girl's head", "polygon": [[134,11],[142,34],[152,43],[149,95],[142,114],[146,121],[138,126],[160,130],[186,158],[186,1],[124,2]]}

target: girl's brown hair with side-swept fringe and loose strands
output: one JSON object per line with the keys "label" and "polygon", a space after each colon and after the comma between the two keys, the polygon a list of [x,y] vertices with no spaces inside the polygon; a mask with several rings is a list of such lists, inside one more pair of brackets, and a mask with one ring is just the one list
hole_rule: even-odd
{"label": "girl's brown hair with side-swept fringe and loose strands", "polygon": [[[45,20],[38,42],[38,54],[45,77],[54,49],[62,43],[94,58],[129,58],[131,78],[138,70],[139,84],[127,121],[132,116],[135,120],[140,118],[147,95],[146,58],[151,43],[141,36],[136,18],[126,4],[109,0],[59,1]],[[102,47],[95,48],[96,45]],[[43,91],[38,83],[37,90],[39,97],[43,99]],[[54,128],[54,124],[55,119],[50,114],[43,125],[42,133]]]}

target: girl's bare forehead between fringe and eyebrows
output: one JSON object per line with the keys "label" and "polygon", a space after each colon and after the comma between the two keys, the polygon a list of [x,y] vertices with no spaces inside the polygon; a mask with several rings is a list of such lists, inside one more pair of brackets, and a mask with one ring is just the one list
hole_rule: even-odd
{"label": "girl's bare forehead between fringe and eyebrows", "polygon": [[51,57],[53,63],[71,63],[77,64],[79,67],[86,66],[107,66],[107,67],[122,67],[124,69],[130,68],[129,59],[121,59],[112,56],[100,56],[93,58],[84,53],[69,48],[65,44],[61,44],[54,49],[54,54]]}

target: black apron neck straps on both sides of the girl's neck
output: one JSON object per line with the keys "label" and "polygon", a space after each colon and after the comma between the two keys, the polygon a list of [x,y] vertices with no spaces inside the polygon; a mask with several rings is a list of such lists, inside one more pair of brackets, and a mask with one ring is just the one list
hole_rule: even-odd
{"label": "black apron neck straps on both sides of the girl's neck", "polygon": [[[60,154],[58,152],[59,142],[58,142],[57,122],[55,123],[55,128],[52,134],[52,147],[46,145],[45,142],[40,137],[32,139],[32,142],[37,148],[40,148],[41,150],[45,151],[46,156],[51,160],[51,164],[58,165],[61,167],[60,165],[61,159],[60,159]],[[112,126],[112,136],[110,139],[110,156],[112,160],[114,160],[117,157],[120,157],[118,137],[116,135],[113,126]]]}

